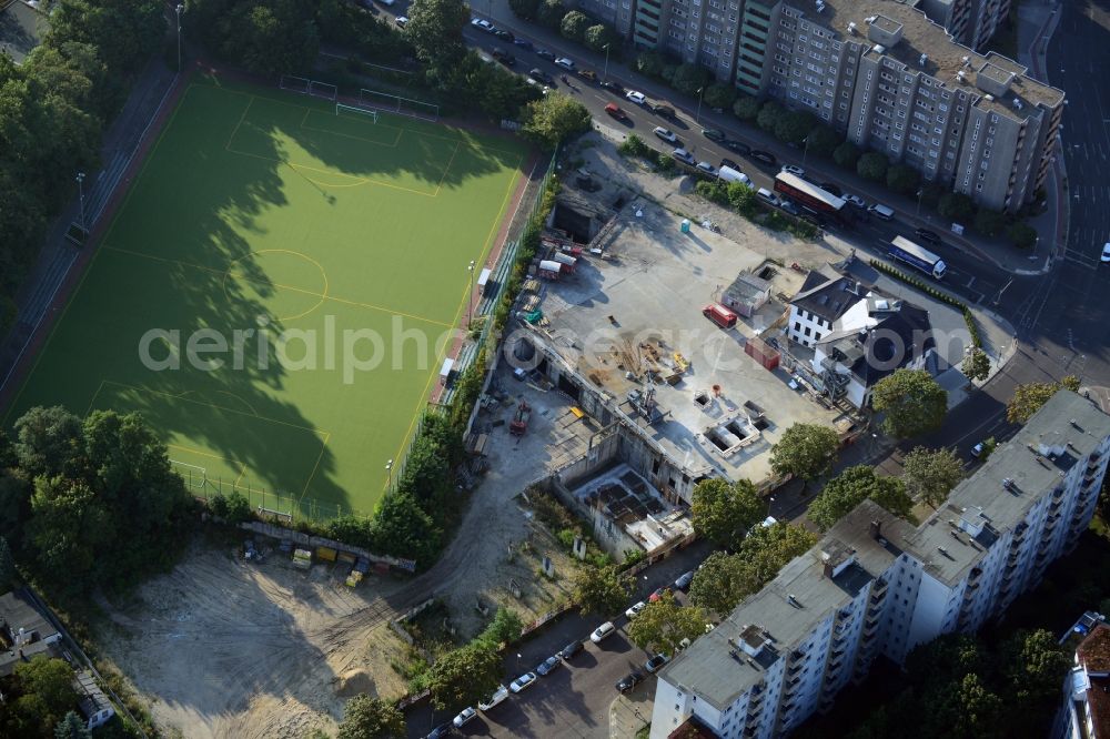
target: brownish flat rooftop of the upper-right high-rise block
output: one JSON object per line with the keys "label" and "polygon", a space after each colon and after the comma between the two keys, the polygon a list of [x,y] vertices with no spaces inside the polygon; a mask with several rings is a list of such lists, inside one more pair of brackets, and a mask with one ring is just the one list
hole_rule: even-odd
{"label": "brownish flat rooftop of the upper-right high-rise block", "polygon": [[[1037,104],[1054,107],[1063,100],[1063,91],[1050,84],[1037,81],[1029,77],[1028,70],[1013,61],[996,52],[986,55],[980,54],[968,47],[957,43],[948,31],[938,23],[931,21],[922,11],[914,6],[915,2],[902,2],[900,0],[827,0],[820,3],[819,0],[786,0],[786,4],[800,10],[806,19],[811,22],[823,23],[834,31],[840,41],[855,40],[861,43],[870,43],[871,51],[865,53],[877,54],[874,50],[874,42],[868,41],[866,19],[877,18],[876,23],[884,28],[901,26],[901,40],[890,47],[885,47],[885,55],[890,57],[908,67],[910,70],[925,72],[944,82],[948,90],[963,88],[973,92],[980,98],[977,103],[980,108],[1006,114],[1016,120],[1023,120],[1036,110]],[[848,23],[856,24],[856,34],[848,32]],[[921,54],[927,57],[925,64],[921,63]],[[968,61],[965,63],[963,59]],[[965,82],[960,83],[957,73],[965,73]],[[1015,74],[1010,91],[1005,95],[1005,100],[986,100],[987,94],[976,87],[977,75],[983,73],[992,79],[999,77],[1000,71]],[[1016,109],[1012,100],[1017,98],[1022,103],[1022,109]]]}

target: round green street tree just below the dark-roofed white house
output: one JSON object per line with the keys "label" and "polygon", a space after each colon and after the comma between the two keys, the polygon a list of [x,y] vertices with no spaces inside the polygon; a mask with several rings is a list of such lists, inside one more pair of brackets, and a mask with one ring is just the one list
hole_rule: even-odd
{"label": "round green street tree just below the dark-roofed white house", "polygon": [[925,370],[896,370],[871,391],[871,406],[885,414],[882,431],[896,438],[921,436],[940,428],[948,413],[948,392]]}

